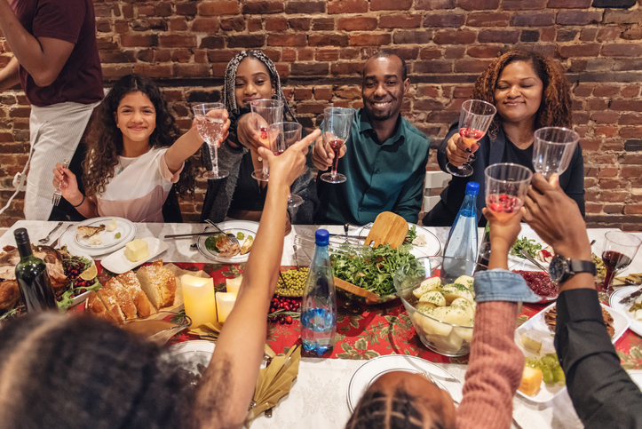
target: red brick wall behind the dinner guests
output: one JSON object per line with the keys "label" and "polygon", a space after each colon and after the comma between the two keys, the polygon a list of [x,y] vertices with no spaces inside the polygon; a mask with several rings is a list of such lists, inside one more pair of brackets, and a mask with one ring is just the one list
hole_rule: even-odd
{"label": "red brick wall behind the dinner guests", "polygon": [[[313,126],[329,104],[361,107],[364,60],[389,47],[408,60],[404,115],[434,141],[501,52],[519,46],[554,55],[573,83],[588,221],[640,229],[642,0],[95,0],[95,7],[106,85],[131,72],[157,79],[184,129],[190,102],[220,98],[226,63],[242,48],[268,54],[298,117]],[[0,43],[3,67],[11,54]],[[21,91],[0,94],[0,106],[4,203],[27,158],[29,107]],[[201,207],[202,191],[183,203],[186,220],[197,220]],[[21,210],[18,200],[0,226]]]}

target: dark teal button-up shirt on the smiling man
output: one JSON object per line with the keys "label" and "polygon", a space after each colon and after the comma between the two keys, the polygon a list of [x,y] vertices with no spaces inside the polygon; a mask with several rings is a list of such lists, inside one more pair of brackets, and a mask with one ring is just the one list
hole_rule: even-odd
{"label": "dark teal button-up shirt on the smiling man", "polygon": [[368,114],[362,108],[357,110],[345,143],[347,150],[337,167],[347,180],[333,185],[317,179],[321,205],[315,222],[365,225],[374,222],[382,211],[392,211],[416,223],[429,144],[424,133],[401,115],[395,133],[381,142]]}

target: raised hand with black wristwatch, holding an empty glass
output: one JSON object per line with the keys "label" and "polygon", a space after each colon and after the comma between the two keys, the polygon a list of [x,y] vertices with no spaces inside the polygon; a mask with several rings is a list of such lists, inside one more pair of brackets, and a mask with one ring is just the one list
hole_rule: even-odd
{"label": "raised hand with black wristwatch, holding an empty glass", "polygon": [[559,187],[557,174],[551,183],[535,173],[524,204],[524,220],[555,253],[566,258],[590,260],[589,236],[577,203]]}

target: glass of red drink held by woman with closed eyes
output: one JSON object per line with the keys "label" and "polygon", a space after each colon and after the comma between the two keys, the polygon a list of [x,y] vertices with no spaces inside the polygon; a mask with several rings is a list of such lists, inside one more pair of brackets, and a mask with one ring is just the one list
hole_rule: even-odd
{"label": "glass of red drink held by woman with closed eyes", "polygon": [[[466,146],[472,147],[486,135],[495,113],[497,113],[495,106],[486,101],[481,101],[480,99],[467,99],[464,101],[462,112],[459,114],[459,135]],[[446,171],[453,176],[467,178],[474,171],[471,165],[468,164],[473,159],[474,155],[470,155],[468,161],[461,167],[447,163]]]}

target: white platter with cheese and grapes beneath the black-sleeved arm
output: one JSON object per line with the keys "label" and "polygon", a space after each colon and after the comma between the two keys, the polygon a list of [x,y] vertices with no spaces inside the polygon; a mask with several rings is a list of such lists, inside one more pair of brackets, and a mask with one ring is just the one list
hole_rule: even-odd
{"label": "white platter with cheese and grapes beneath the black-sleeved arm", "polygon": [[[521,336],[521,334],[523,334],[527,330],[541,330],[543,332],[548,332],[551,334],[551,336],[553,336],[554,333],[551,330],[549,330],[549,326],[544,321],[544,314],[546,314],[546,312],[548,312],[553,306],[555,306],[555,303],[551,304],[551,306],[547,306],[538,314],[535,314],[533,317],[528,319],[527,322],[525,322],[517,330],[515,330],[515,343],[517,343],[517,346],[519,346],[519,348],[521,349],[521,351],[524,353],[526,357],[540,357],[540,356],[537,356],[535,354],[528,352],[523,346],[521,346],[521,344],[519,343],[519,337]],[[609,314],[611,314],[611,317],[613,317],[613,327],[614,327],[615,333],[613,338],[611,338],[611,341],[615,343],[615,341],[617,341],[620,337],[622,337],[622,334],[624,333],[624,331],[629,328],[629,320],[621,312],[604,305],[601,305],[601,306],[605,308]],[[546,385],[544,382],[542,382],[542,388],[537,394],[535,394],[535,396],[528,396],[524,393],[521,393],[519,390],[517,391],[517,393],[519,393],[519,395],[521,395],[522,398],[525,398],[528,401],[543,404],[551,401],[560,392],[564,392],[566,389],[567,389],[566,385]]]}

